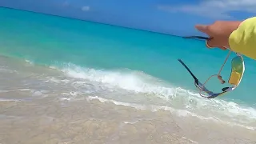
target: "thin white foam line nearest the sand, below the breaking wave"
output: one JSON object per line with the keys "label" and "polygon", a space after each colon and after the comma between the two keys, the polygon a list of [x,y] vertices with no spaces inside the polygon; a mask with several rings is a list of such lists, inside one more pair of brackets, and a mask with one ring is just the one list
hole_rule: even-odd
{"label": "thin white foam line nearest the sand, below the breaking wave", "polygon": [[240,126],[240,127],[246,128],[248,130],[255,130],[255,128],[251,127],[251,126],[243,126],[243,125],[237,124],[237,123],[224,122],[224,121],[222,121],[218,118],[213,118],[213,117],[206,118],[206,117],[191,113],[191,112],[186,111],[186,110],[174,110],[173,108],[171,108],[169,106],[155,106],[155,105],[145,106],[145,105],[138,105],[138,104],[134,104],[134,103],[118,102],[118,101],[114,101],[112,99],[100,98],[98,96],[89,96],[88,98],[86,98],[86,100],[88,102],[90,102],[91,100],[98,100],[102,103],[112,102],[115,105],[133,107],[136,110],[151,110],[152,112],[157,112],[158,110],[166,110],[166,111],[170,111],[171,113],[175,113],[180,117],[185,117],[185,116],[188,116],[190,114],[190,116],[197,117],[197,118],[200,118],[200,119],[212,120],[214,122],[222,122],[224,124],[229,124],[231,126]]}

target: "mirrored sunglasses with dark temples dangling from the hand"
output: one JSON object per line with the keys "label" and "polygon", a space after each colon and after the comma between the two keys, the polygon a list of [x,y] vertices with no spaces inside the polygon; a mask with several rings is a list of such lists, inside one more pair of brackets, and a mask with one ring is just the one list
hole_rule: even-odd
{"label": "mirrored sunglasses with dark temples dangling from the hand", "polygon": [[[191,37],[186,37],[186,38],[199,38],[199,39],[204,39],[204,40],[207,39],[206,37],[198,37],[198,36],[191,36]],[[231,50],[230,50],[230,52],[231,52]],[[226,60],[227,60],[227,58],[229,58],[229,56],[230,56],[230,53],[227,55]],[[236,89],[238,87],[238,85],[240,84],[240,82],[242,81],[242,76],[245,71],[245,64],[244,64],[242,55],[237,54],[237,56],[232,58],[232,60],[231,60],[230,78],[228,80],[228,83],[231,86],[223,87],[222,92],[214,93],[213,91],[208,90],[205,87],[205,85],[210,80],[210,78],[213,78],[214,76],[217,76],[222,84],[226,83],[226,81],[224,81],[222,79],[222,76],[220,76],[222,68],[221,68],[221,70],[219,70],[218,74],[211,75],[206,80],[206,82],[204,82],[202,84],[201,82],[199,82],[198,78],[191,72],[191,70],[188,68],[188,66],[186,66],[186,64],[184,62],[182,62],[181,59],[178,59],[178,61],[182,63],[182,66],[184,66],[186,68],[186,70],[190,73],[190,75],[194,78],[194,85],[198,88],[198,90],[200,90],[199,94],[204,98],[216,98],[222,94],[226,94],[226,92]],[[225,65],[225,63],[226,63],[226,61],[222,64],[222,67]]]}

